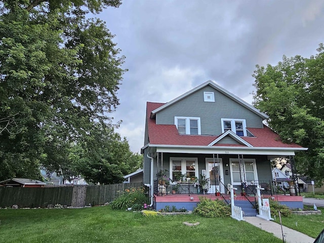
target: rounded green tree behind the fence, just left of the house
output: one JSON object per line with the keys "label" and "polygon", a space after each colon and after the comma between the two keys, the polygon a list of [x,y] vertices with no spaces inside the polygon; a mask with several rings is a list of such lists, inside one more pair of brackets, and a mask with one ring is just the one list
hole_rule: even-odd
{"label": "rounded green tree behind the fence, just left of the house", "polygon": [[114,132],[114,126],[95,123],[72,147],[68,160],[68,168],[63,171],[82,175],[90,183],[114,184],[125,181],[124,175],[141,167],[143,157],[130,151],[128,141]]}

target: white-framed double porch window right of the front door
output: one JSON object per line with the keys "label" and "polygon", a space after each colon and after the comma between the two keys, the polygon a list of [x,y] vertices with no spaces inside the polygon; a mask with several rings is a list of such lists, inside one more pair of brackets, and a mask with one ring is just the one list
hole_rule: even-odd
{"label": "white-framed double porch window right of the front door", "polygon": [[[247,183],[258,181],[255,159],[243,159],[243,163],[240,165],[238,159],[231,158],[229,165],[232,185],[241,184],[241,175],[245,177]],[[242,180],[244,180],[244,178],[242,178]]]}

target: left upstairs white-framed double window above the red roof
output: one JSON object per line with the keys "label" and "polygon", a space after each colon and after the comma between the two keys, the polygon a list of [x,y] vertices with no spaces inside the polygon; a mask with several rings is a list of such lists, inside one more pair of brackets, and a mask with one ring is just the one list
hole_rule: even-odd
{"label": "left upstairs white-framed double window above the red roof", "polygon": [[179,134],[200,135],[200,118],[199,117],[174,117],[174,123]]}

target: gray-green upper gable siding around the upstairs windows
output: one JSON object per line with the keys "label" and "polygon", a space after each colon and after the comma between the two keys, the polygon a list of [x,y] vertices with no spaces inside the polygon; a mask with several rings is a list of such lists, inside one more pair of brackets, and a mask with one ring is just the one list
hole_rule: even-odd
{"label": "gray-green upper gable siding around the upstairs windows", "polygon": [[[204,102],[204,92],[214,92],[215,102]],[[158,112],[156,124],[173,125],[175,116],[200,117],[201,135],[221,134],[221,118],[246,119],[248,128],[263,128],[259,115],[210,86]]]}

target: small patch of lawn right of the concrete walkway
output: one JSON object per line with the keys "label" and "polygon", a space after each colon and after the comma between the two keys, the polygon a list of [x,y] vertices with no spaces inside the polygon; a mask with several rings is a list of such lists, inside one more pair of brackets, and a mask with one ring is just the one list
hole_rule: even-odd
{"label": "small patch of lawn right of the concrete walkway", "polygon": [[[324,208],[317,208],[324,213]],[[292,215],[290,217],[281,218],[282,225],[291,229],[297,230],[310,237],[316,238],[317,235],[324,229],[324,216],[321,215]],[[279,217],[276,217],[275,222],[279,223]],[[297,225],[296,225],[297,222]]]}

